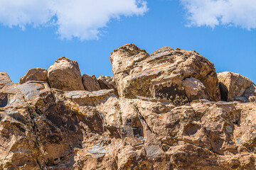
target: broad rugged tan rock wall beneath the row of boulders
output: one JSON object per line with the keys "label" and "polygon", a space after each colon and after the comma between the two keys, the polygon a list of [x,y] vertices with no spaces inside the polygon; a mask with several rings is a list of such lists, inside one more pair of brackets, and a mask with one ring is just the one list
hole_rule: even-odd
{"label": "broad rugged tan rock wall beneath the row of boulders", "polygon": [[8,96],[0,108],[3,169],[255,169],[256,103],[176,107],[42,81],[5,85],[0,94]]}

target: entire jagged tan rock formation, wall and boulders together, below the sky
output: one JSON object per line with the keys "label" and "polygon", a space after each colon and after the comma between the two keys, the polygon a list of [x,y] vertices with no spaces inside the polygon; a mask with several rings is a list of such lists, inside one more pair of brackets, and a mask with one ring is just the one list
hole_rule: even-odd
{"label": "entire jagged tan rock formation, wall and boulders together, below the sky", "polygon": [[256,169],[255,84],[230,73],[220,101],[225,74],[195,51],[128,44],[110,58],[98,91],[64,57],[48,82],[0,73],[0,169]]}

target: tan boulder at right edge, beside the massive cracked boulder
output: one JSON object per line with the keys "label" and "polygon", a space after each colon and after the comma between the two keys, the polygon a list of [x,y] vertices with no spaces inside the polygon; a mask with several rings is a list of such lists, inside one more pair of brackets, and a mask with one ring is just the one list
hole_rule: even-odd
{"label": "tan boulder at right edge, beside the massive cracked boulder", "polygon": [[256,86],[238,73],[218,73],[222,101],[256,101]]}

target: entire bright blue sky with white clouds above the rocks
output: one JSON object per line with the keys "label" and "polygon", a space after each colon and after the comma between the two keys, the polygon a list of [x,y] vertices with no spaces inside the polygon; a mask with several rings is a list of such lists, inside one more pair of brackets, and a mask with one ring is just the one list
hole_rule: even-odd
{"label": "entire bright blue sky with white clouds above the rocks", "polygon": [[256,82],[255,0],[95,1],[101,5],[1,0],[0,72],[18,82],[28,69],[48,69],[66,56],[82,74],[112,76],[110,53],[132,42],[149,53],[163,46],[196,50],[217,72]]}

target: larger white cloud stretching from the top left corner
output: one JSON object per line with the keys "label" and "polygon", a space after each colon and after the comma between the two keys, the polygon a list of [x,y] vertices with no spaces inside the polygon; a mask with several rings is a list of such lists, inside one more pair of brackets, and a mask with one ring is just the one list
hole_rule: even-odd
{"label": "larger white cloud stretching from the top left corner", "polygon": [[58,27],[60,38],[89,40],[98,38],[112,18],[147,10],[144,0],[0,0],[0,23],[23,29],[50,23]]}

